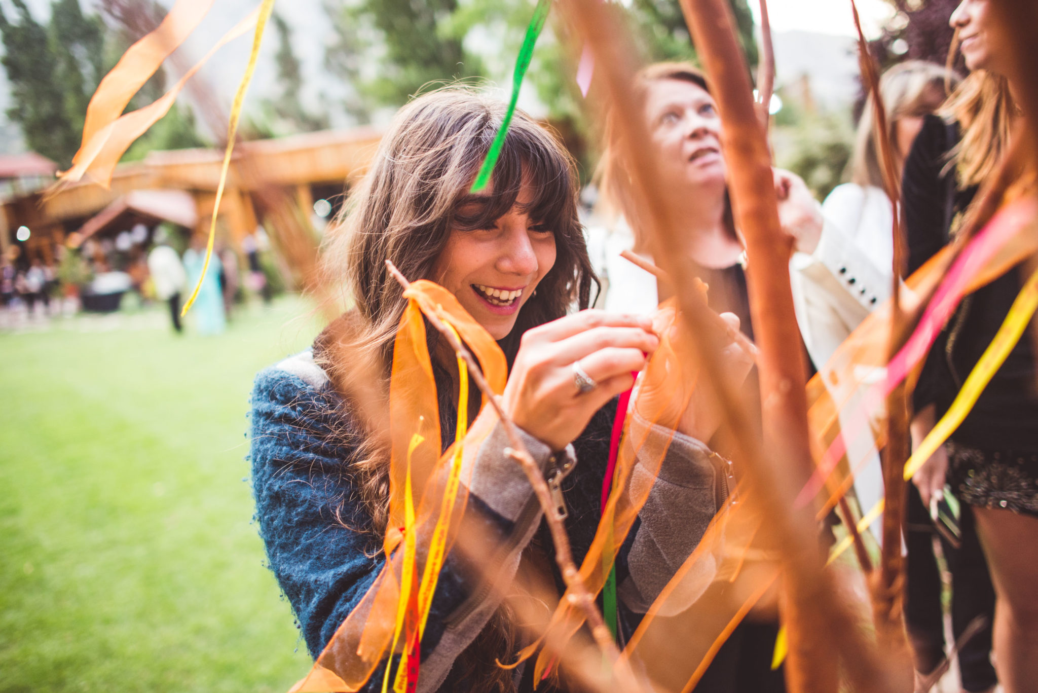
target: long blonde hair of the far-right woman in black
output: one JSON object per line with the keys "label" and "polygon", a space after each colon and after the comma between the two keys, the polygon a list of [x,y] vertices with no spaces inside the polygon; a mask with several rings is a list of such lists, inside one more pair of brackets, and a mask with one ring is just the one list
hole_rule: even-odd
{"label": "long blonde hair of the far-right woman in black", "polygon": [[949,157],[949,167],[958,174],[960,188],[980,185],[992,176],[1009,143],[1016,105],[1009,81],[986,70],[974,71],[962,80],[940,109],[940,115],[957,121],[962,138]]}

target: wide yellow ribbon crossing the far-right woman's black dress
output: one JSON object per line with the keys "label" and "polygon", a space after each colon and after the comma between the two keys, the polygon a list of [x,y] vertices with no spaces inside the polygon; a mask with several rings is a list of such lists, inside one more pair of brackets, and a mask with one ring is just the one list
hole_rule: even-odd
{"label": "wide yellow ribbon crossing the far-right woman's black dress", "polygon": [[930,458],[930,455],[936,452],[937,448],[955,432],[955,429],[966,418],[981,393],[984,392],[984,388],[991,381],[995,371],[1002,368],[1009,352],[1020,341],[1036,308],[1038,308],[1038,269],[1031,274],[1023,284],[1023,288],[1020,289],[1020,293],[1016,295],[1012,308],[1009,309],[1009,314],[1002,322],[1002,326],[999,327],[994,339],[984,350],[980,361],[974,366],[969,377],[962,384],[962,390],[955,396],[952,406],[908,458],[905,463],[905,479],[911,479],[923,467],[923,463]]}

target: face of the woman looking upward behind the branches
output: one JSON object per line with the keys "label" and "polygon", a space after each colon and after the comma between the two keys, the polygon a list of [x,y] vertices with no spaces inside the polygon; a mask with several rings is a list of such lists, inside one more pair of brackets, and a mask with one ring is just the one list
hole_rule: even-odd
{"label": "face of the woman looking upward behind the branches", "polygon": [[647,97],[645,113],[664,180],[723,189],[720,117],[713,98],[699,84],[678,79],[650,83]]}

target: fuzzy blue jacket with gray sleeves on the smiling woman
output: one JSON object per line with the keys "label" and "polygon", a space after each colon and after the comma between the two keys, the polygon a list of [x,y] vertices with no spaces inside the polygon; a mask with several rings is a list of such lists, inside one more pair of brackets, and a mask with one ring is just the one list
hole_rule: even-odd
{"label": "fuzzy blue jacket with gray sleeves on the smiling woman", "polygon": [[[371,517],[350,472],[359,433],[327,375],[313,362],[312,351],[262,371],[251,404],[250,458],[260,534],[270,568],[316,658],[384,564],[381,536],[365,531]],[[596,414],[571,450],[578,463],[563,489],[569,508],[566,526],[578,564],[600,517],[614,415],[613,401]],[[672,438],[670,431],[659,435]],[[540,463],[553,461],[546,446],[531,436],[525,438]],[[501,545],[512,547],[502,564],[514,571],[519,554],[536,532],[542,533],[540,545],[550,548],[551,543],[528,482],[503,455],[506,446],[498,428],[479,451],[466,522],[480,523],[499,537]],[[673,434],[638,530],[618,563],[620,595],[628,607],[644,612],[695,547],[713,515],[717,483],[718,472],[706,447]],[[553,561],[550,568],[561,588]],[[493,595],[474,588],[472,571],[448,556],[421,643],[419,691],[458,690],[448,676],[450,666],[497,607]],[[475,598],[481,601],[473,604]],[[376,682],[381,683],[381,675],[373,676],[364,690],[374,690]]]}

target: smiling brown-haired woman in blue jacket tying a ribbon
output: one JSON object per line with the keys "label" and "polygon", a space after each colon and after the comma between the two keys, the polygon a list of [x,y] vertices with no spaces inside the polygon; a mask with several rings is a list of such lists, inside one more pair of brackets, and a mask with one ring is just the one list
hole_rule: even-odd
{"label": "smiling brown-haired woman in blue jacket tying a ribbon", "polygon": [[[407,300],[386,260],[410,279],[445,288],[500,346],[509,364],[501,408],[553,482],[557,507],[569,507],[566,530],[577,563],[597,531],[617,396],[631,388],[631,373],[646,367],[660,343],[648,316],[586,310],[567,315],[574,305],[586,308],[595,277],[577,221],[574,167],[548,131],[517,111],[491,186],[470,193],[504,110],[504,104],[450,88],[425,95],[398,113],[371,172],[330,234],[328,270],[349,287],[353,308],[329,325],[312,350],[256,378],[252,480],[261,534],[310,654],[325,651],[316,671],[332,667],[350,690],[377,690],[388,681],[386,670],[400,665],[394,657],[379,662],[370,655],[359,662],[358,647],[350,645],[353,621],[339,625],[360,613],[365,594],[374,593],[388,560],[385,552],[399,545],[389,537],[402,531],[417,536],[419,555],[426,545],[420,523],[411,526],[416,531],[408,531],[406,523],[403,530],[395,523],[387,526],[389,470],[399,457],[385,435],[387,408],[397,417],[392,436],[420,420],[402,421],[406,417],[387,407],[386,399],[390,391],[414,387],[400,379],[398,365],[422,345],[398,336],[402,315],[414,314],[405,314]],[[431,374],[424,371],[421,377],[435,384],[439,439],[445,444],[463,425],[456,411],[464,410],[465,402],[458,400],[465,397],[465,375],[439,334],[425,334],[428,367],[422,368]],[[733,368],[726,373],[741,380],[748,355],[739,347],[727,354]],[[709,397],[691,394],[677,431],[641,424],[660,446],[655,449],[667,452],[652,500],[621,555],[622,624],[645,612],[723,501],[718,489],[725,477],[701,443],[717,426],[708,416]],[[477,405],[473,400],[469,410]],[[495,581],[504,581],[495,584],[507,584],[521,569],[522,555],[525,569],[542,579],[550,574],[554,582],[548,584],[563,584],[543,553],[550,551],[551,539],[532,487],[507,454],[510,444],[500,423],[487,428],[489,434],[472,447],[477,452],[466,457],[471,471],[461,481],[467,498],[462,529],[472,523],[491,539],[481,552],[486,563],[484,570],[473,569],[465,557],[447,554],[419,637],[419,692],[531,691],[532,667],[506,670],[494,664],[513,660],[526,643],[519,641],[508,604],[484,571],[492,567]],[[425,439],[424,433],[414,445]],[[408,470],[413,451],[407,452]],[[638,456],[634,465],[641,463]],[[645,463],[659,464],[659,456]],[[415,498],[421,492],[417,488]],[[665,529],[675,525],[683,531]],[[400,553],[392,553],[393,561]],[[410,671],[415,662],[408,659],[403,668]],[[412,681],[411,675],[406,677]]]}

